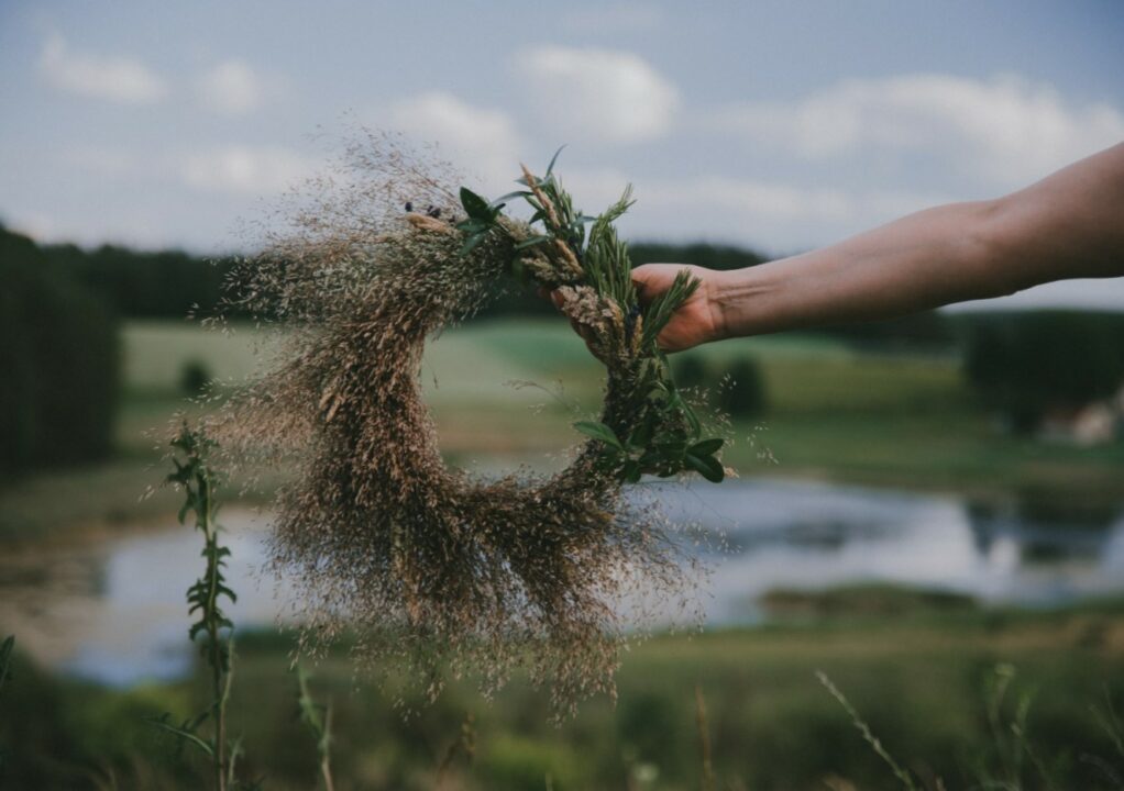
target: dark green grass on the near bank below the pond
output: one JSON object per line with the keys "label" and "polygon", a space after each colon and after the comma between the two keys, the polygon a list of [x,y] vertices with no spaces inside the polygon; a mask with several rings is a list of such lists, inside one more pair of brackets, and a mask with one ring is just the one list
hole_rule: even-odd
{"label": "dark green grass on the near bank below the pond", "polygon": [[[1104,714],[1124,702],[1124,603],[1037,614],[894,611],[655,637],[626,654],[616,705],[589,700],[561,727],[547,721],[545,693],[518,679],[490,702],[471,683],[456,684],[404,719],[387,695],[356,686],[343,651],[316,669],[312,690],[333,702],[341,791],[707,788],[696,687],[708,712],[716,790],[900,789],[816,671],[927,789],[937,778],[950,790],[1115,788],[1094,760],[1121,771],[1124,755],[1093,708]],[[293,714],[291,641],[273,633],[239,640],[233,725],[245,737],[248,773],[270,789],[316,782],[314,741]],[[989,706],[997,680],[1009,688]],[[121,789],[202,787],[198,763],[178,758],[143,717],[185,717],[203,687],[200,674],[119,692],[20,664],[6,690],[10,714],[0,719],[0,744],[15,756],[10,776],[26,788],[87,788],[91,776],[110,773]],[[1010,725],[1023,703],[1028,716],[1016,738]],[[473,760],[454,753],[438,785],[437,767],[466,715]]]}

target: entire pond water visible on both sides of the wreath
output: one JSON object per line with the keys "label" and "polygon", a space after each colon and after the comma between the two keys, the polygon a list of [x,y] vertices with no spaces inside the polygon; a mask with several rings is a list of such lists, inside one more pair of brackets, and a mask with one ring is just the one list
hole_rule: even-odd
{"label": "entire pond water visible on both sides of the wreath", "polygon": [[[760,620],[770,589],[885,581],[1044,606],[1124,591],[1124,505],[1067,514],[1050,502],[984,507],[953,497],[782,480],[659,485],[671,515],[725,534],[710,561],[710,624]],[[262,573],[268,525],[223,519],[241,626],[292,617]],[[126,684],[182,674],[191,661],[184,590],[200,536],[174,522],[94,546],[0,562],[0,632],[57,669]]]}

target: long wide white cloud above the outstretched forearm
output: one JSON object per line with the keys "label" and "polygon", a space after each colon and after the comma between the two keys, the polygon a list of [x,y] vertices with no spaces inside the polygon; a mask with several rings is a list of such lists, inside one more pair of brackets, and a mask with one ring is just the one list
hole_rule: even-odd
{"label": "long wide white cloud above the outstretched forearm", "polygon": [[847,80],[792,102],[725,108],[710,125],[807,159],[937,157],[1004,187],[1124,139],[1120,110],[1067,102],[1048,84],[1012,75]]}

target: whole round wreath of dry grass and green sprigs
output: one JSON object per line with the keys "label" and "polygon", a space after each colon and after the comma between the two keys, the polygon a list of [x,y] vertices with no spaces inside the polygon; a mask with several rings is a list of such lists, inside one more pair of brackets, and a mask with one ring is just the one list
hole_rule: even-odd
{"label": "whole round wreath of dry grass and green sprigs", "polygon": [[[362,659],[426,679],[432,696],[462,672],[490,692],[520,665],[559,714],[611,692],[643,603],[691,580],[669,525],[624,485],[724,475],[723,440],[703,435],[656,344],[697,283],[683,274],[642,303],[614,229],[631,190],[588,217],[554,159],[492,202],[447,190],[444,163],[387,136],[345,162],[347,177],[299,196],[228,297],[283,329],[283,350],[229,402],[220,431],[242,458],[298,469],[277,496],[271,553],[297,587],[309,644],[356,634]],[[514,199],[529,221],[504,213]],[[590,330],[605,405],[574,424],[587,442],[564,470],[481,479],[442,460],[419,370],[426,340],[510,274],[558,289]]]}

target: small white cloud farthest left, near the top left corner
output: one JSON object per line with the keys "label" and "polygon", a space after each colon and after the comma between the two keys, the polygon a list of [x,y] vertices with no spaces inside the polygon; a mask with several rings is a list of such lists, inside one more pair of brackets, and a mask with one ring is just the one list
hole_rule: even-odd
{"label": "small white cloud farthest left, near the top left corner", "polygon": [[139,61],[72,53],[57,34],[44,44],[39,70],[55,88],[91,99],[146,104],[167,95],[163,79]]}

